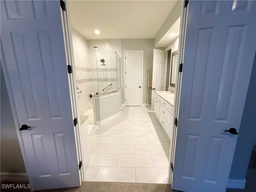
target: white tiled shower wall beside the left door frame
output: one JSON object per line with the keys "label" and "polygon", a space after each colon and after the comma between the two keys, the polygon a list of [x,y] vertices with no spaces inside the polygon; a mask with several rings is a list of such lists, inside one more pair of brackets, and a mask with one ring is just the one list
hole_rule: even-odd
{"label": "white tiled shower wall beside the left door frame", "polygon": [[88,109],[92,109],[92,100],[88,100],[91,91],[91,82],[89,81],[91,73],[86,71],[86,68],[90,68],[88,41],[72,29],[72,42],[76,66],[76,85],[82,91],[78,94],[78,114],[82,115]]}

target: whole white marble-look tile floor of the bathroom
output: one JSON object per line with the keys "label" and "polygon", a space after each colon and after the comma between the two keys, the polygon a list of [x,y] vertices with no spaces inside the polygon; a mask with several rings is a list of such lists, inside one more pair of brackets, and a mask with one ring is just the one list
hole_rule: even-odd
{"label": "whole white marble-look tile floor of the bathroom", "polygon": [[168,183],[170,139],[149,108],[122,106],[89,139],[86,181]]}

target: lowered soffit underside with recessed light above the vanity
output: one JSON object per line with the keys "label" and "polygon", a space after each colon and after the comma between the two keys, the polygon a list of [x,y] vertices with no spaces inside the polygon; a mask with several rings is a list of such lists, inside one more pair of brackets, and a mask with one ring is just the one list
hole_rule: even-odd
{"label": "lowered soffit underside with recessed light above the vanity", "polygon": [[[174,36],[170,36],[170,34],[174,33]],[[165,47],[170,42],[172,42],[176,37],[179,36],[180,33],[180,17],[176,20],[176,22],[171,26],[171,28],[166,32],[166,34],[162,37],[162,39],[156,44],[156,47]]]}

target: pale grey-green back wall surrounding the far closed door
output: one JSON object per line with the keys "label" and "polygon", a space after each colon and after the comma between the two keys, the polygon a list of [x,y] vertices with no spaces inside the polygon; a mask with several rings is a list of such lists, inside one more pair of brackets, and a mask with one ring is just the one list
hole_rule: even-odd
{"label": "pale grey-green back wall surrounding the far closed door", "polygon": [[[143,95],[142,103],[147,103],[147,84],[148,74],[147,71],[153,70],[153,50],[154,50],[154,39],[122,39],[122,76],[124,76],[124,51],[129,50],[143,50],[144,51],[144,70],[143,70]],[[122,102],[124,103],[124,80],[122,81]]]}

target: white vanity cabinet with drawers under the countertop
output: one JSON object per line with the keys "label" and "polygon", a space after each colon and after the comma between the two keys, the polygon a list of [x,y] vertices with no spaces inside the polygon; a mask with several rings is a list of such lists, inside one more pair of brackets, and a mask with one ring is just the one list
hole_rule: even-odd
{"label": "white vanity cabinet with drawers under the countertop", "polygon": [[164,98],[158,94],[154,94],[154,113],[156,114],[158,120],[163,126],[166,134],[171,139],[172,137],[172,122],[173,122],[173,105],[167,102]]}

